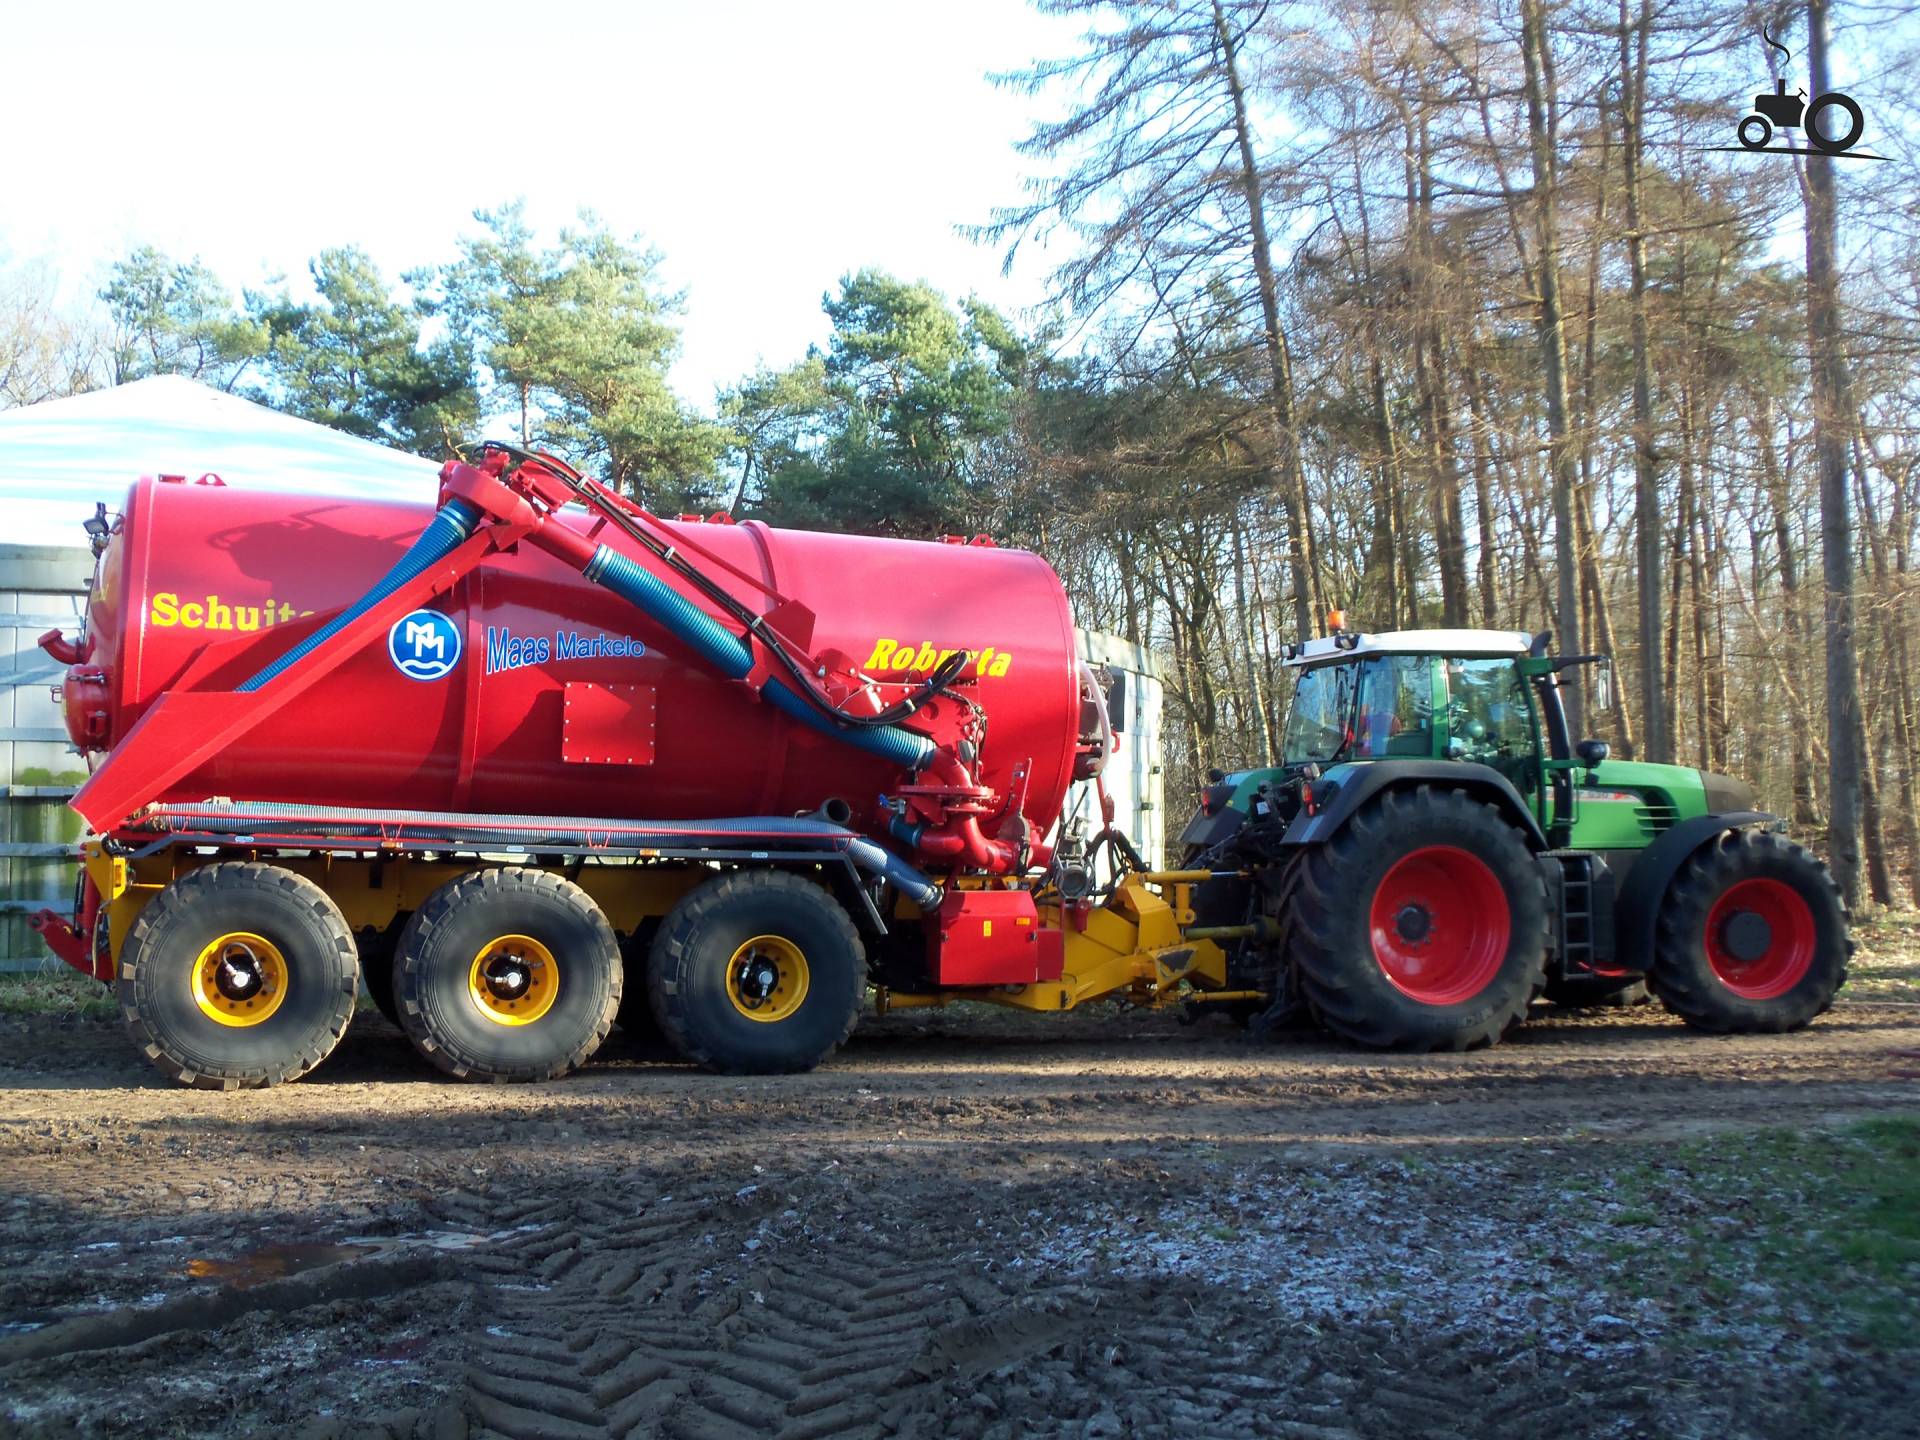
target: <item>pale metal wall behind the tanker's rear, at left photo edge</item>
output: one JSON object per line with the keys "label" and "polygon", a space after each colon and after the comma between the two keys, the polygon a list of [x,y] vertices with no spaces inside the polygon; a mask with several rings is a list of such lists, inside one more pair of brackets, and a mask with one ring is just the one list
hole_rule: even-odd
{"label": "pale metal wall behind the tanker's rear, at left photo edge", "polygon": [[44,632],[79,630],[94,557],[83,547],[0,545],[0,972],[60,970],[27,916],[73,906],[73,845],[81,818],[67,808],[86,766],[67,743],[52,687],[65,670],[40,649]]}

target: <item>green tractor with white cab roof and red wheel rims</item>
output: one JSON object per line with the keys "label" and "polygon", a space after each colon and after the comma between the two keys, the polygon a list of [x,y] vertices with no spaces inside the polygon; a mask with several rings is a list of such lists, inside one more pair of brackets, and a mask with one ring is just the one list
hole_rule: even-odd
{"label": "green tractor with white cab roof and red wheel rims", "polygon": [[1288,647],[1283,764],[1212,772],[1181,837],[1187,868],[1238,876],[1194,908],[1254,922],[1229,977],[1269,996],[1256,1025],[1465,1050],[1542,993],[1644,985],[1718,1033],[1834,1002],[1851,941],[1826,866],[1740,780],[1571,743],[1561,674],[1596,662],[1498,630]]}

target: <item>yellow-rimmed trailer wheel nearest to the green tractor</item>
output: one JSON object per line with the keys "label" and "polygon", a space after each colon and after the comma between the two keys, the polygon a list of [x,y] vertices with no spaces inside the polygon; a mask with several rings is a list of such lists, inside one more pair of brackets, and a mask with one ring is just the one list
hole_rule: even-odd
{"label": "yellow-rimmed trailer wheel nearest to the green tractor", "polygon": [[812,1069],[852,1033],[866,950],[820,885],[774,870],[710,879],[674,906],[647,966],[668,1043],[722,1075]]}

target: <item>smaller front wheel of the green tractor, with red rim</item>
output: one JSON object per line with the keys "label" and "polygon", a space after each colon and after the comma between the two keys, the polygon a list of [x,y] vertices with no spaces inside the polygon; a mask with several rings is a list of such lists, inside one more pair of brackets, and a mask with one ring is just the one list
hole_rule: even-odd
{"label": "smaller front wheel of the green tractor, with red rim", "polygon": [[[1761,933],[1747,945],[1761,952],[1740,960],[1730,929],[1751,916]],[[1695,1029],[1778,1035],[1826,1014],[1851,954],[1828,868],[1782,835],[1736,829],[1697,849],[1668,883],[1647,983]]]}

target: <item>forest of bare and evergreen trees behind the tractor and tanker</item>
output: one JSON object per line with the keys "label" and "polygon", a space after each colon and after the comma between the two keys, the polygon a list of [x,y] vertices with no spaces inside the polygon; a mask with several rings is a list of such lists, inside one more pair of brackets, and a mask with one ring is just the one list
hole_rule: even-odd
{"label": "forest of bare and evergreen trees behind the tractor and tanker", "polygon": [[[1083,40],[996,77],[1054,117],[1025,194],[954,217],[1044,248],[1031,313],[852,253],[822,346],[695,405],[660,255],[507,204],[401,275],[344,246],[234,294],[136,246],[75,303],[4,265],[0,405],[186,374],[422,455],[551,447],[662,513],[1033,547],[1164,657],[1175,812],[1277,756],[1283,647],[1331,607],[1549,630],[1619,662],[1582,733],[1745,776],[1855,904],[1920,902],[1908,12],[1039,8]],[[1855,148],[1741,148],[1778,79],[1845,90]]]}

